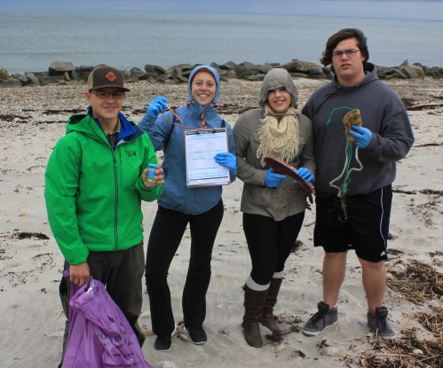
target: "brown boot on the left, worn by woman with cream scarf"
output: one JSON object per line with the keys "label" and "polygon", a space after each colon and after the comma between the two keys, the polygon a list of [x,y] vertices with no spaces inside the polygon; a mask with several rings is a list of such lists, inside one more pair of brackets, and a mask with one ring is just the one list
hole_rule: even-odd
{"label": "brown boot on the left, worn by woman with cream scarf", "polygon": [[263,340],[258,321],[263,315],[267,290],[252,290],[246,285],[243,286],[243,290],[245,311],[241,326],[243,327],[244,338],[249,346],[260,348],[263,345]]}

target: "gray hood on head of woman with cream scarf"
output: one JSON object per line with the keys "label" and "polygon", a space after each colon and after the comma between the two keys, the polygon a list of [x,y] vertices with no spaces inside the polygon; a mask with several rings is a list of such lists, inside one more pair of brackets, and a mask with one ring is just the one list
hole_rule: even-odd
{"label": "gray hood on head of woman with cream scarf", "polygon": [[290,106],[297,107],[297,87],[292,81],[288,70],[282,69],[281,67],[275,67],[266,73],[265,78],[263,79],[262,88],[260,90],[260,98],[258,100],[260,106],[265,106],[267,94],[270,90],[277,90],[279,88],[284,88],[289,92],[292,97]]}

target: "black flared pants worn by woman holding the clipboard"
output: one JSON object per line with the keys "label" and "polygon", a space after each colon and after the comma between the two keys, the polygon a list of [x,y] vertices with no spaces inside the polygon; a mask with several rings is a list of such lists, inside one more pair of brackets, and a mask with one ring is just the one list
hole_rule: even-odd
{"label": "black flared pants worn by woman holding the clipboard", "polygon": [[153,332],[168,336],[174,330],[168,271],[189,223],[191,257],[183,290],[186,327],[202,327],[206,317],[206,292],[210,286],[210,260],[223,218],[223,202],[201,215],[186,215],[159,206],[146,251],[146,288],[151,306]]}

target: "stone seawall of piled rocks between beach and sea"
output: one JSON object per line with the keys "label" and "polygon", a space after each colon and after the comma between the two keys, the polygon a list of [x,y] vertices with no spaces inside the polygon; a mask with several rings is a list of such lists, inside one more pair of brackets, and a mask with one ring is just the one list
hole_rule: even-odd
{"label": "stone seawall of piled rocks between beach and sea", "polygon": [[[199,65],[199,64],[196,64]],[[187,82],[189,74],[196,66],[194,64],[179,64],[168,69],[146,64],[145,70],[132,67],[124,69],[126,82],[164,82],[179,84]],[[235,64],[228,61],[225,64],[211,63],[211,67],[218,70],[222,81],[227,79],[241,79],[246,81],[262,81],[265,74],[274,67],[282,67],[289,71],[293,78],[332,79],[332,72],[328,67],[321,67],[312,62],[293,59],[289,63],[265,63],[256,65],[248,61]],[[94,67],[75,67],[66,61],[54,61],[47,72],[27,72],[25,74],[9,74],[7,69],[0,69],[0,88],[13,88],[28,85],[60,84],[69,82],[85,82]],[[429,76],[434,79],[443,77],[443,67],[426,67],[419,63],[409,64],[405,60],[398,67],[377,66],[378,77],[382,80],[397,79],[424,79]]]}

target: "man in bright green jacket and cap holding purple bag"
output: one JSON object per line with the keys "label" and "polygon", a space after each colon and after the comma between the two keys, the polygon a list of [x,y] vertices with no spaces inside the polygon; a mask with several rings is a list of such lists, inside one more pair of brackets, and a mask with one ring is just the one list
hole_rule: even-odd
{"label": "man in bright green jacket and cap holding purple bag", "polygon": [[[127,91],[122,72],[114,67],[91,72],[85,93],[91,106],[87,114],[67,121],[67,134],[55,145],[46,168],[44,197],[51,231],[70,274],[60,284],[65,314],[69,281],[83,286],[90,277],[98,279],[141,346],[141,200],[156,200],[164,182],[149,137],[121,113]],[[157,164],[154,181],[146,177],[149,163]]]}

